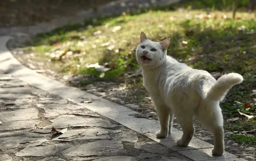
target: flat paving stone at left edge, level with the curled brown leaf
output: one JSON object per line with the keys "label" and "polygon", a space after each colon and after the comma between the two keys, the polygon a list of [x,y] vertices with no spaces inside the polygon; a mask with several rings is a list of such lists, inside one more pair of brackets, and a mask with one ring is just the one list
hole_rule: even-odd
{"label": "flat paving stone at left edge, level with the curled brown leaf", "polygon": [[34,129],[35,125],[40,123],[40,120],[21,120],[21,121],[10,121],[3,123],[0,126],[0,131],[9,130],[21,130],[21,129]]}

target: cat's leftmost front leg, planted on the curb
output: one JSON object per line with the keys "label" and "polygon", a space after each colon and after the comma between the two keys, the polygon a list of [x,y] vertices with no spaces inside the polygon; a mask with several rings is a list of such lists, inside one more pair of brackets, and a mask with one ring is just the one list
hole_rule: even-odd
{"label": "cat's leftmost front leg, planted on the curb", "polygon": [[170,109],[161,103],[155,104],[161,125],[161,130],[157,132],[156,137],[165,138],[168,136]]}

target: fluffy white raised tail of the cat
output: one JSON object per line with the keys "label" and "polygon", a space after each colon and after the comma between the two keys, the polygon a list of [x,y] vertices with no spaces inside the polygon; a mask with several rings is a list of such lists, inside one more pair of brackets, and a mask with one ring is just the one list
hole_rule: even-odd
{"label": "fluffy white raised tail of the cat", "polygon": [[216,83],[210,87],[206,99],[221,101],[231,87],[242,82],[243,77],[238,73],[222,75]]}

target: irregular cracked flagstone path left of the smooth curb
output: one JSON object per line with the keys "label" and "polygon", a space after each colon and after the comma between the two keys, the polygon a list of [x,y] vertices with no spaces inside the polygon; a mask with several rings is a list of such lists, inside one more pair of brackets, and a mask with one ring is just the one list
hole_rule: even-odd
{"label": "irregular cracked flagstone path left of the smooth curb", "polygon": [[[0,160],[189,160],[142,134],[0,74]],[[66,128],[64,134],[51,132]]]}

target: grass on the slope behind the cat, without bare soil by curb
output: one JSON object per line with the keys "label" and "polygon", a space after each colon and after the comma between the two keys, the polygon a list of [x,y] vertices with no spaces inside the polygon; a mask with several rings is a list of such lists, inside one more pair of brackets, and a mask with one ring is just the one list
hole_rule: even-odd
{"label": "grass on the slope behind the cat, without bare soil by curb", "polygon": [[[196,2],[192,8],[204,5]],[[208,1],[212,8],[218,7],[218,4],[212,5],[212,2]],[[186,1],[176,4],[174,8],[188,6],[187,3]],[[203,14],[202,18],[196,18],[200,14]],[[233,102],[253,103],[253,96],[250,94],[251,90],[256,88],[256,39],[255,33],[249,32],[256,30],[255,16],[238,12],[238,19],[233,20],[230,18],[230,12],[211,11],[210,15],[211,17],[206,18],[205,9],[191,9],[190,6],[180,11],[151,10],[136,15],[123,14],[112,18],[87,20],[84,25],[66,26],[38,35],[34,44],[25,50],[35,54],[32,59],[44,61],[46,66],[64,74],[93,74],[93,80],[113,80],[124,79],[124,73],[138,68],[134,60],[134,50],[139,43],[141,31],[154,41],[170,38],[168,55],[177,60],[208,72],[237,72],[243,75],[244,82],[233,87],[222,103],[227,118],[236,117],[238,109],[247,114],[255,114],[255,105],[251,104],[250,108],[245,108]],[[223,19],[223,15],[228,18]],[[121,29],[113,32],[116,26]],[[239,30],[241,26],[245,28]],[[96,34],[97,31],[101,33]],[[188,45],[183,46],[182,41],[187,41]],[[109,47],[113,49],[109,50]],[[58,57],[58,50],[73,51],[77,54],[66,55],[62,61],[49,62],[51,55]],[[105,72],[104,78],[99,78],[99,72],[86,67],[96,62],[108,62],[112,70]],[[226,128],[234,131],[248,130],[253,126],[254,120],[226,123]]]}

